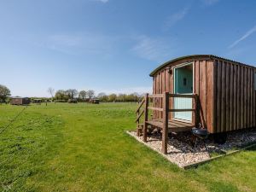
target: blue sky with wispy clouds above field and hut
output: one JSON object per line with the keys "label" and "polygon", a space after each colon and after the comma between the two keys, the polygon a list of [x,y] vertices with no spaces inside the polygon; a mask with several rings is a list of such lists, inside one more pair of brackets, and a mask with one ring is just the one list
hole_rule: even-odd
{"label": "blue sky with wispy clouds above field and hut", "polygon": [[148,74],[183,55],[256,66],[255,10],[254,0],[0,0],[0,84],[12,96],[145,93]]}

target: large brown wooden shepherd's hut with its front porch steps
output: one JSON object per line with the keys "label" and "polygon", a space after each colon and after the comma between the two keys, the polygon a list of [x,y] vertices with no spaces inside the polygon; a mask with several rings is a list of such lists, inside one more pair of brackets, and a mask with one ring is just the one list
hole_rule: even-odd
{"label": "large brown wooden shepherd's hut with its front porch steps", "polygon": [[[221,136],[256,127],[256,67],[215,55],[188,55],[167,61],[150,76],[153,95],[137,108],[137,132],[143,130],[146,141],[148,128],[161,129],[164,153],[168,132],[201,125]],[[148,110],[153,110],[151,119]]]}

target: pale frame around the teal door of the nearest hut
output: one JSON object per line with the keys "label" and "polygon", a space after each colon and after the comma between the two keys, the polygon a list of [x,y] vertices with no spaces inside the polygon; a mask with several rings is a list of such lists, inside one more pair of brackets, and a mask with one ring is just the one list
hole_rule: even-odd
{"label": "pale frame around the teal door of the nearest hut", "polygon": [[[175,84],[176,84],[176,69],[177,68],[180,68],[180,67],[185,67],[185,66],[189,66],[189,65],[192,65],[192,76],[193,76],[193,90],[192,90],[192,93],[191,94],[194,94],[195,93],[195,62],[193,61],[190,61],[190,62],[183,62],[181,64],[178,64],[177,66],[174,66],[173,67],[173,90],[172,92],[174,94],[176,94],[175,90],[176,90],[176,87],[175,87]],[[174,99],[172,101],[172,106],[174,107]],[[193,121],[193,113],[192,113],[192,119],[191,120],[187,120],[187,119],[177,119],[175,118],[175,115],[172,114],[172,119],[175,119],[177,121],[184,121],[184,122],[192,122]]]}

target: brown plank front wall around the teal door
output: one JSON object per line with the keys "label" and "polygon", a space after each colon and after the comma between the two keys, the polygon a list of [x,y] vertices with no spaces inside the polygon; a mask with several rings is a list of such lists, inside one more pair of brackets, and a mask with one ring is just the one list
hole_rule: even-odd
{"label": "brown plank front wall around the teal door", "polygon": [[[199,96],[199,116],[201,125],[213,131],[213,67],[214,61],[208,58],[200,58],[198,60],[184,59],[173,62],[168,67],[172,68],[172,74],[169,73],[169,68],[165,67],[154,75],[153,78],[153,93],[161,94],[165,91],[173,93],[173,68],[177,65],[192,62],[194,72],[194,90],[193,92]],[[170,99],[170,108],[173,108],[173,101]],[[162,108],[160,98],[154,99],[154,107]],[[154,119],[162,119],[161,112],[154,112]],[[169,119],[172,119],[172,113],[169,114]]]}

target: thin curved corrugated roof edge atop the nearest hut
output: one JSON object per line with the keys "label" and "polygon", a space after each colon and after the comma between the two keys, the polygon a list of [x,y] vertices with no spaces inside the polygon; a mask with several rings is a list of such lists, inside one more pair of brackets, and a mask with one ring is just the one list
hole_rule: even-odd
{"label": "thin curved corrugated roof edge atop the nearest hut", "polygon": [[[161,68],[164,68],[164,67],[168,66],[169,64],[171,64],[174,61],[179,61],[179,60],[189,59],[189,58],[193,59],[195,57],[209,57],[209,59],[220,59],[220,60],[235,62],[236,64],[247,66],[247,67],[253,67],[253,66],[250,66],[250,65],[238,62],[238,61],[233,61],[233,60],[230,60],[230,59],[225,59],[225,58],[217,56],[217,55],[186,55],[186,56],[177,57],[177,58],[175,58],[175,59],[173,59],[171,61],[166,61],[165,63],[160,65],[160,67],[157,67],[156,69],[154,69],[154,71],[152,73],[150,73],[150,76],[153,77],[154,74],[157,73],[158,71],[160,71]],[[253,67],[253,68],[255,68],[255,67]]]}

